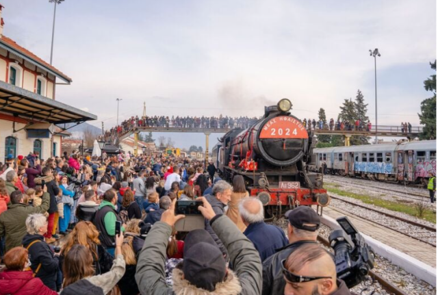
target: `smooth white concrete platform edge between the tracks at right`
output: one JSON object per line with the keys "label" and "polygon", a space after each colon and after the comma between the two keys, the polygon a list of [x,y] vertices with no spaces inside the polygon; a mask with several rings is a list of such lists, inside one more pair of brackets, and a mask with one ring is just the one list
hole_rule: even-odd
{"label": "smooth white concrete platform edge between the tracks at right", "polygon": [[[330,227],[331,229],[342,229],[337,221],[330,216],[321,216],[321,221],[324,225]],[[428,266],[424,262],[402,253],[391,246],[383,244],[382,242],[379,242],[368,235],[363,233],[361,233],[361,235],[365,241],[372,246],[376,254],[385,257],[391,261],[391,263],[395,264],[396,266],[400,266],[400,268],[403,268],[426,283],[433,285],[433,287],[437,286],[437,270],[435,268]]]}

